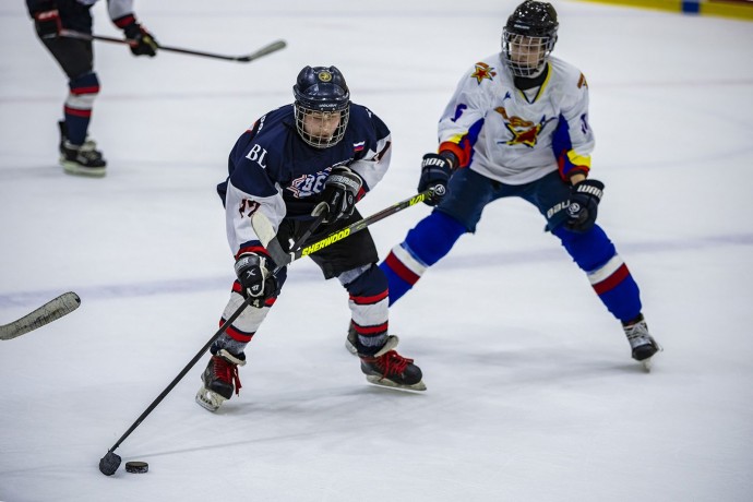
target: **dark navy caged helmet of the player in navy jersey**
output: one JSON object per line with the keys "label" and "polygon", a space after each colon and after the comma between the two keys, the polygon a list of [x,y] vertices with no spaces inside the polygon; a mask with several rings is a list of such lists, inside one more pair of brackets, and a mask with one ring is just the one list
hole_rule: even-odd
{"label": "dark navy caged helmet of the player in navy jersey", "polygon": [[[292,86],[296,98],[296,127],[304,142],[318,148],[337,144],[345,135],[350,115],[350,91],[343,73],[335,67],[306,67]],[[339,112],[339,123],[332,136],[321,138],[307,132],[303,119],[309,113]]]}

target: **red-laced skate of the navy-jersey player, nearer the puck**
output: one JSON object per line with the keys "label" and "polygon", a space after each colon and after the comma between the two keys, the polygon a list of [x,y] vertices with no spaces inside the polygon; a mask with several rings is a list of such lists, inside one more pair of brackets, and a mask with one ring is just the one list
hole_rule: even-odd
{"label": "red-laced skate of the navy-jersey player, nearer the puck", "polygon": [[196,403],[210,411],[216,411],[224,402],[240,391],[238,367],[246,364],[246,357],[234,356],[225,349],[212,356],[210,363],[201,375],[204,384],[196,392]]}

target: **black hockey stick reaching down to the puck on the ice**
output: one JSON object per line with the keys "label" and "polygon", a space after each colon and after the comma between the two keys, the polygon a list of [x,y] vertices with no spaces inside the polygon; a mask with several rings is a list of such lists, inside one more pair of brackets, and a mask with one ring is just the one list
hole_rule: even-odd
{"label": "black hockey stick reaching down to the puck on the ice", "polygon": [[[303,235],[298,239],[298,241],[292,244],[292,249],[300,248],[311,236],[311,234],[316,229],[316,227],[324,220],[326,212],[322,212],[321,214],[319,214],[313,224],[309,226],[309,228],[303,232]],[[285,265],[278,265],[275,268],[274,273],[277,273],[283,266]],[[248,296],[246,298],[243,303],[241,303],[241,306],[238,307],[238,309],[236,309],[235,312],[232,312],[232,314],[227,319],[227,321],[225,321],[219,326],[219,330],[217,330],[217,332],[214,335],[212,335],[212,338],[210,338],[210,340],[201,348],[201,350],[199,350],[199,352],[196,352],[196,355],[193,356],[193,359],[191,359],[189,363],[186,364],[186,367],[180,371],[180,373],[178,373],[178,375],[175,379],[172,379],[172,382],[170,382],[169,385],[165,387],[162,394],[159,394],[156,397],[156,399],[152,402],[152,404],[144,410],[144,413],[142,413],[139,416],[139,418],[136,418],[136,420],[131,425],[131,427],[125,431],[125,433],[123,433],[123,435],[121,435],[120,439],[107,451],[105,456],[99,459],[99,471],[101,474],[104,474],[105,476],[112,476],[115,471],[118,470],[118,467],[120,467],[121,458],[120,455],[115,453],[115,451],[118,446],[120,446],[120,443],[125,441],[125,438],[131,435],[131,432],[133,432],[135,428],[139,427],[139,425],[141,425],[142,421],[144,421],[144,419],[154,410],[154,408],[156,408],[159,405],[159,403],[162,403],[162,401],[170,393],[170,391],[172,391],[172,389],[176,385],[178,385],[178,382],[180,382],[183,379],[183,376],[186,376],[186,374],[191,370],[191,368],[193,368],[194,364],[199,362],[199,359],[201,359],[204,356],[204,354],[210,349],[212,344],[214,344],[214,342],[217,338],[219,338],[219,336],[223,333],[225,333],[225,331],[228,327],[230,327],[230,325],[236,321],[236,319],[238,319],[238,316],[243,312],[243,310],[246,310],[246,308],[252,304],[254,301],[255,299],[251,296]]]}

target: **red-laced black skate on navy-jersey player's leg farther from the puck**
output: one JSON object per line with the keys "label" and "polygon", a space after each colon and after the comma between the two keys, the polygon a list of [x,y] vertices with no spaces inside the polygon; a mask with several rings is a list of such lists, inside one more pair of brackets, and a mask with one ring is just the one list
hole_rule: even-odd
{"label": "red-laced black skate on navy-jersey player's leg farther from the puck", "polygon": [[361,371],[366,379],[375,385],[426,391],[421,369],[414,364],[413,359],[405,358],[394,350],[398,342],[397,336],[390,335],[379,352],[373,356],[359,354]]}

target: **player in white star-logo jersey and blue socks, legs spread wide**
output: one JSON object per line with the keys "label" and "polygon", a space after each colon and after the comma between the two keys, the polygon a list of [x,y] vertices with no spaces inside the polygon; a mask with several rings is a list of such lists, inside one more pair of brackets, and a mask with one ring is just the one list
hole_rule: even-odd
{"label": "player in white star-logo jersey and blue socks, legs spread wide", "polygon": [[641,312],[637,284],[596,224],[605,187],[588,178],[588,85],[575,67],[550,56],[558,26],[550,3],[521,3],[504,27],[502,51],[463,76],[439,123],[438,154],[421,163],[418,190],[435,188],[437,207],[380,267],[392,304],[462,235],[476,231],[487,204],[521,198],[543,215],[622,323],[633,359],[648,367],[660,347]]}

